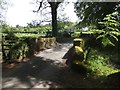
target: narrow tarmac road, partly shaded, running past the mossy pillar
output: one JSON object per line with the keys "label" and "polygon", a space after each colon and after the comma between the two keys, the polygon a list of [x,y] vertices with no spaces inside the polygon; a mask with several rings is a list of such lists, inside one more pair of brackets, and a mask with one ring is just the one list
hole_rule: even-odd
{"label": "narrow tarmac road, partly shaded, running past the mossy pillar", "polygon": [[2,88],[91,88],[92,80],[72,72],[63,56],[72,47],[70,43],[41,51],[27,63],[3,72]]}

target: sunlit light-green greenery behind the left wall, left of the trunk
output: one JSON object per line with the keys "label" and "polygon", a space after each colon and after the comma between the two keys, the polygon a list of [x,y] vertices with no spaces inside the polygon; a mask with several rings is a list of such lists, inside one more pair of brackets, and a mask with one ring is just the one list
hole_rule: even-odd
{"label": "sunlit light-green greenery behind the left wall, left of the trunk", "polygon": [[36,26],[36,27],[10,27],[8,25],[2,25],[2,33],[4,35],[12,32],[16,37],[44,37],[47,32],[51,30],[50,25]]}

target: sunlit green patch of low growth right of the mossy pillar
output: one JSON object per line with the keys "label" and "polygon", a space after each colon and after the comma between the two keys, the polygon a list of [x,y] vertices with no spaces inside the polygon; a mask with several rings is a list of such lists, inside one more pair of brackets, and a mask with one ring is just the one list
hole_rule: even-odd
{"label": "sunlit green patch of low growth right of the mossy pillar", "polygon": [[88,67],[96,76],[108,76],[120,71],[109,63],[109,55],[101,53],[98,50],[91,49],[88,59]]}

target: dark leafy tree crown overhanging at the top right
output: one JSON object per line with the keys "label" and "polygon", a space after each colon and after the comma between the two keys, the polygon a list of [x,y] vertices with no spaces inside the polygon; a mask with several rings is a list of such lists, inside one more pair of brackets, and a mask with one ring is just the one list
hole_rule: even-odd
{"label": "dark leafy tree crown overhanging at the top right", "polygon": [[76,2],[75,12],[82,20],[81,26],[89,26],[102,21],[102,19],[114,11],[119,12],[120,2]]}

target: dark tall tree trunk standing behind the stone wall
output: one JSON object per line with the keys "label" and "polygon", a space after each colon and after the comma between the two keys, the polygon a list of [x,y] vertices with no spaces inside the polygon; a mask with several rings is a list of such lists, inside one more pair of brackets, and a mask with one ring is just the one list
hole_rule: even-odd
{"label": "dark tall tree trunk standing behind the stone wall", "polygon": [[[63,0],[47,0],[47,2],[50,5],[51,8],[51,15],[52,15],[52,36],[57,36],[58,34],[58,29],[57,29],[57,8],[59,6],[59,4],[61,2],[63,2]],[[39,2],[39,8],[37,11],[34,12],[38,12],[40,10],[40,8],[42,7],[43,4],[43,0],[41,2]]]}

